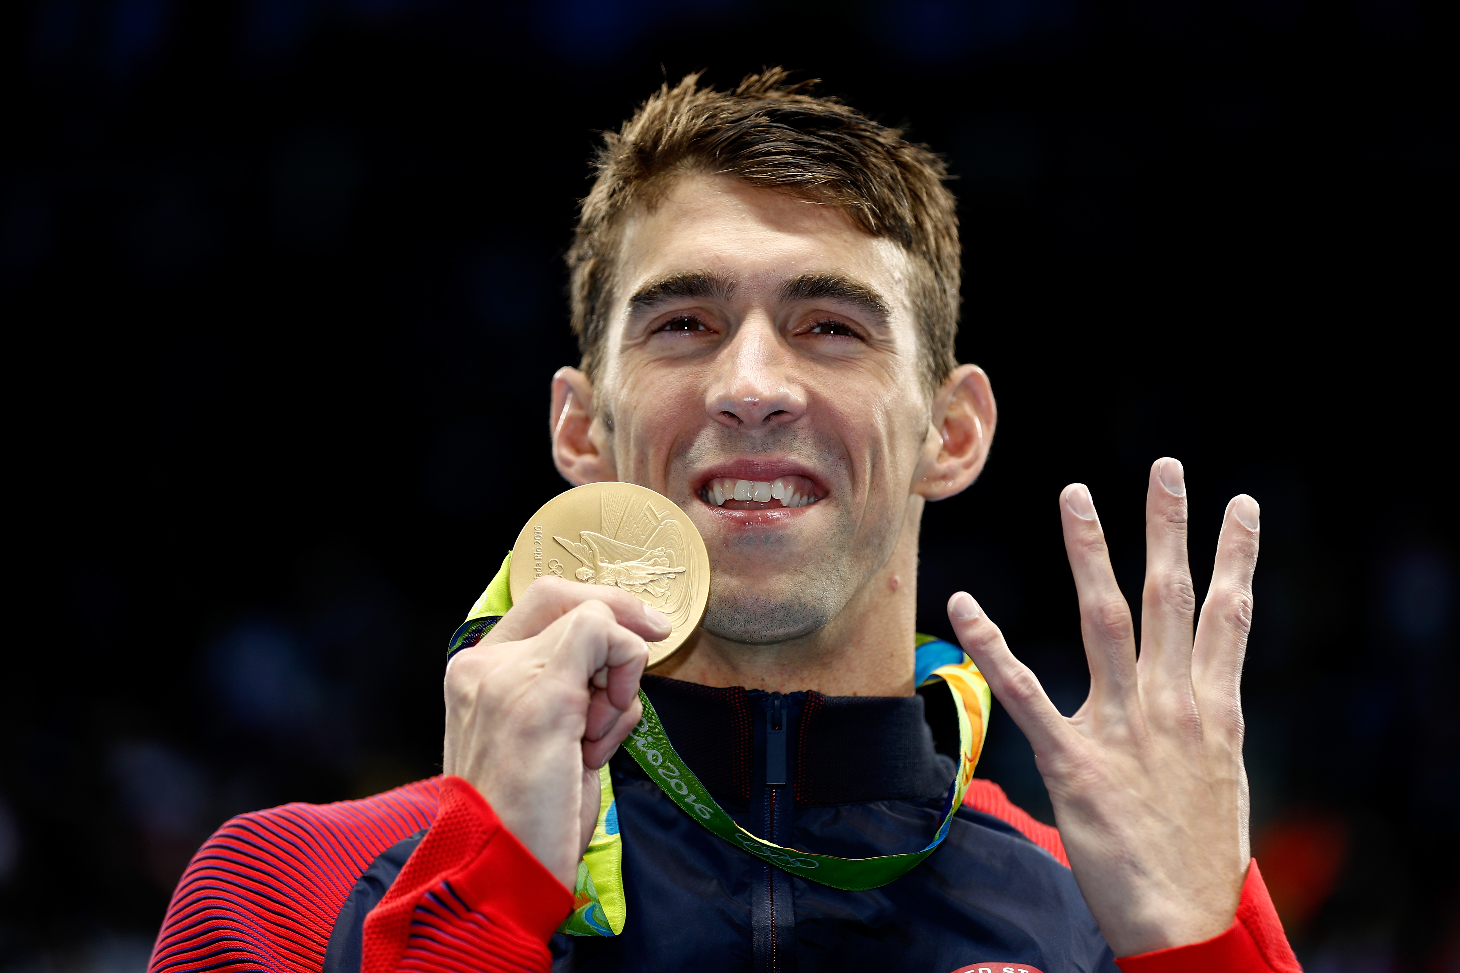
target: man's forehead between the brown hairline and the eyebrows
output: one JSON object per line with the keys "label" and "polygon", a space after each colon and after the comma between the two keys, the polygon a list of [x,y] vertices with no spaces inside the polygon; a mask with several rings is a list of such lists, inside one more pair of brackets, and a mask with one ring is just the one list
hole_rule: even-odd
{"label": "man's forehead between the brown hairline and the eyebrows", "polygon": [[891,239],[864,233],[838,206],[748,185],[720,175],[683,175],[653,207],[628,214],[620,238],[620,302],[648,280],[710,271],[753,296],[807,274],[861,280],[908,315],[908,257]]}

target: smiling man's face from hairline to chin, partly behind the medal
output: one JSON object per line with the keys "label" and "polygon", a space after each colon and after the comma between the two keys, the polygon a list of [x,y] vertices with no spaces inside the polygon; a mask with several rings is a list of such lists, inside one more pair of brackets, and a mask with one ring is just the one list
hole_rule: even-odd
{"label": "smiling man's face from hairline to chin, partly behind the medal", "polygon": [[708,175],[622,244],[594,381],[618,477],[704,535],[708,632],[809,635],[886,563],[930,435],[908,257],[838,207]]}

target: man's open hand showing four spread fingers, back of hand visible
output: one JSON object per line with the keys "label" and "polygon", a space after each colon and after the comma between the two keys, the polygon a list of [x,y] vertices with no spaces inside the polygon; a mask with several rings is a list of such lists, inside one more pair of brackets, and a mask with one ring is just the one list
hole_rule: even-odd
{"label": "man's open hand showing four spread fingers, back of hand visible", "polygon": [[1181,464],[1146,495],[1140,654],[1089,490],[1060,495],[1091,694],[1066,719],[967,592],[948,602],[964,649],[1028,737],[1085,902],[1115,955],[1225,931],[1250,861],[1241,671],[1253,619],[1259,508],[1226,506],[1193,637]]}

